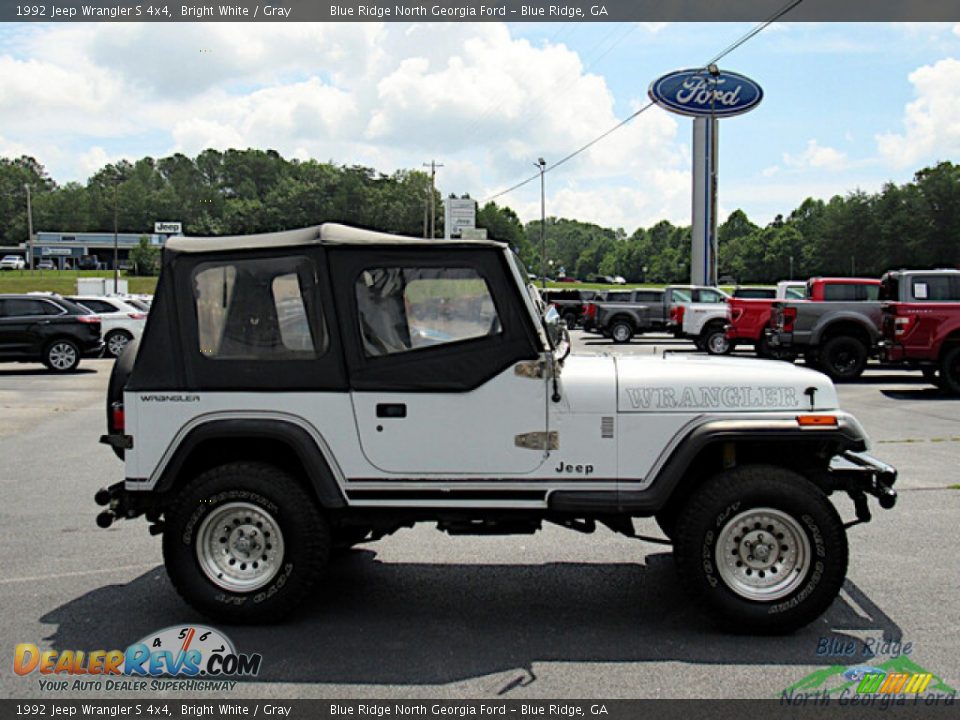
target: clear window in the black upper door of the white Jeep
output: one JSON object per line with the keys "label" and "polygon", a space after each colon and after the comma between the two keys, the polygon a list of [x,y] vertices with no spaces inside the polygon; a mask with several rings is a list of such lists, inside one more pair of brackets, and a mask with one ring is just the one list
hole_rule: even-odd
{"label": "clear window in the black upper door of the white Jeep", "polygon": [[502,332],[490,288],[473,268],[367,268],[354,292],[367,357]]}

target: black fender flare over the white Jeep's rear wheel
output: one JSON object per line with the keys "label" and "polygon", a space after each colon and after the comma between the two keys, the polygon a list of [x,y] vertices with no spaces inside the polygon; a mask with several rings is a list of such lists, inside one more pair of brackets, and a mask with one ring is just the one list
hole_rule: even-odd
{"label": "black fender flare over the white Jeep's rear wheel", "polygon": [[160,471],[154,490],[170,490],[187,459],[201,443],[244,438],[272,440],[286,445],[306,471],[305,479],[320,505],[327,509],[346,505],[341,485],[334,475],[334,469],[339,473],[335,462],[328,462],[324,449],[305,428],[289,420],[276,418],[221,418],[201,422],[177,443],[173,455]]}

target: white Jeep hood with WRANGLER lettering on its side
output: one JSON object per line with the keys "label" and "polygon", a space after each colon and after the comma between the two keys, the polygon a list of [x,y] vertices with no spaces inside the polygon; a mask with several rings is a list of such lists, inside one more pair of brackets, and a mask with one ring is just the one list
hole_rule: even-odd
{"label": "white Jeep hood with WRANGLER lettering on its side", "polygon": [[619,356],[615,363],[618,412],[809,412],[838,407],[836,389],[826,375],[777,360],[676,354]]}

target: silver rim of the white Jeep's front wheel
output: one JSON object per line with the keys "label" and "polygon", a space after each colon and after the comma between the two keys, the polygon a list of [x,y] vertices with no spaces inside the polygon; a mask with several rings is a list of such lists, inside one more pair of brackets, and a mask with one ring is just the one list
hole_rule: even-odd
{"label": "silver rim of the white Jeep's front wheel", "polygon": [[786,597],[803,582],[811,562],[810,540],[790,515],[754,508],[720,531],[716,565],[721,580],[747,600]]}

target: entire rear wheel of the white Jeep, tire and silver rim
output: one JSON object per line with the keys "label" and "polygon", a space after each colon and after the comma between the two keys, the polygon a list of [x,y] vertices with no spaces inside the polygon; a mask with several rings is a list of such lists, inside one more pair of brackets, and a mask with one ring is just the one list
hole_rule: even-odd
{"label": "entire rear wheel of the white Jeep, tire and silver rim", "polygon": [[177,592],[200,612],[269,623],[306,597],[330,546],[329,525],[293,477],[236,462],[198,476],[167,512],[163,558]]}

